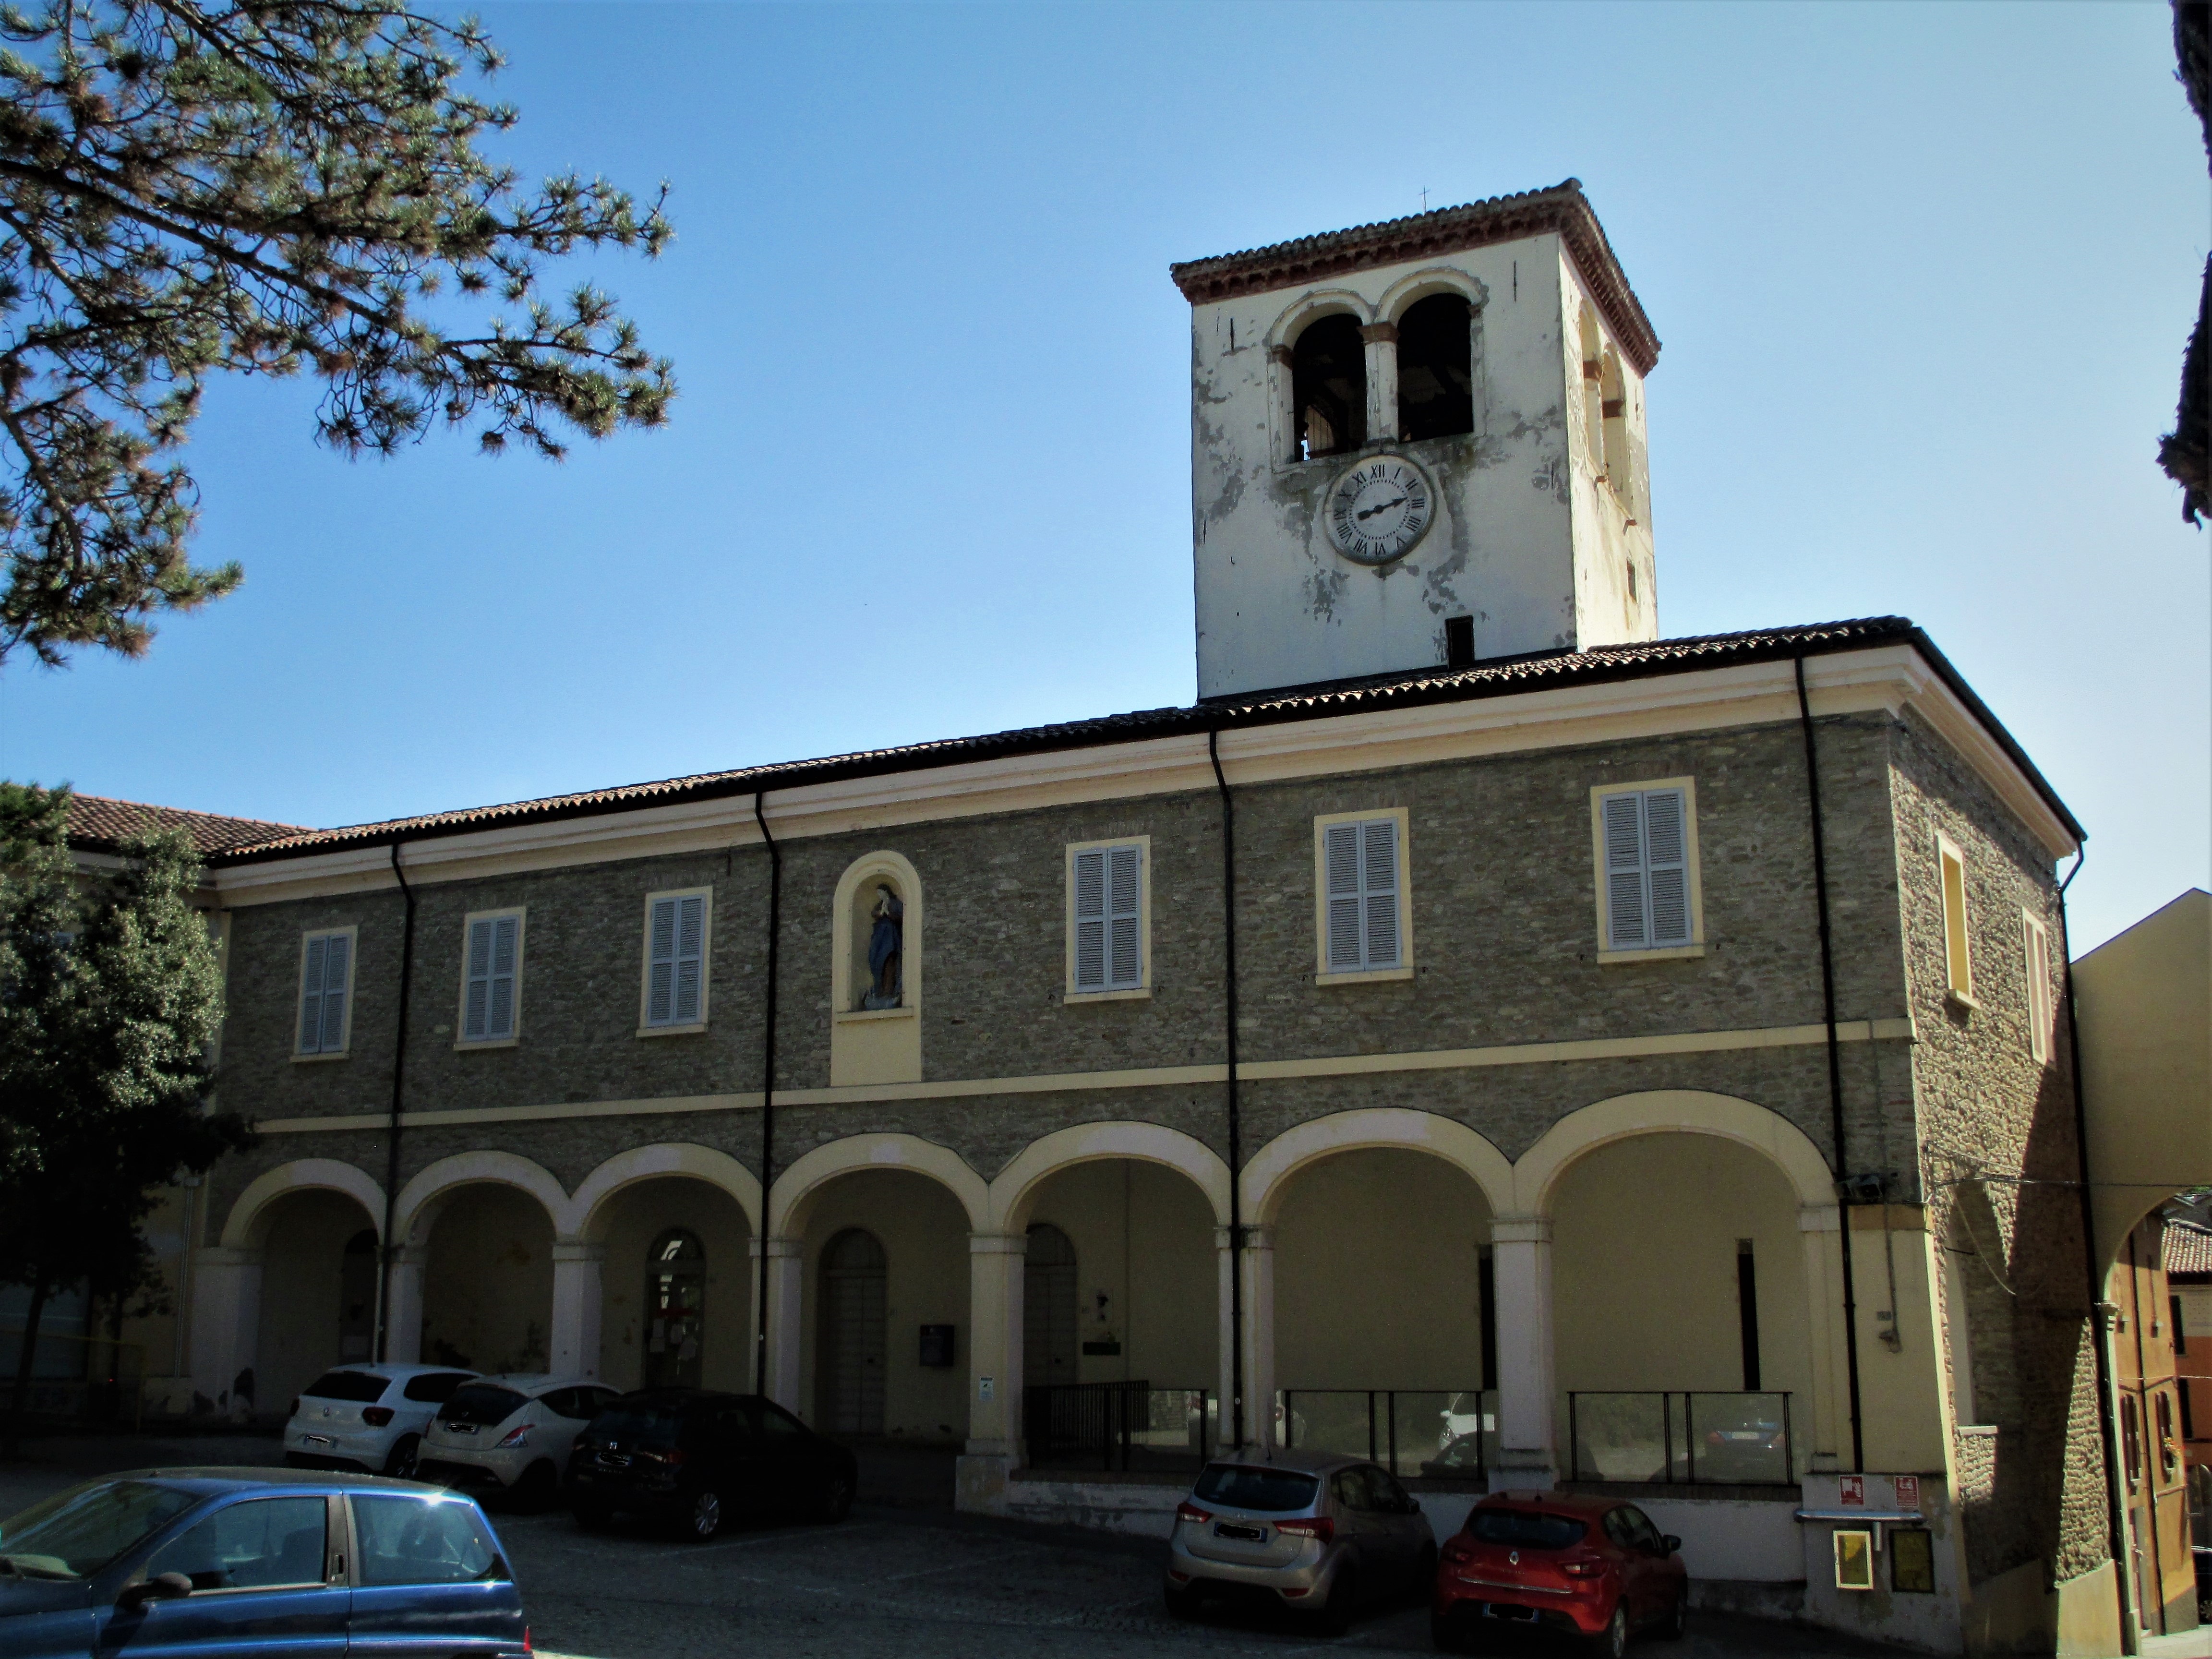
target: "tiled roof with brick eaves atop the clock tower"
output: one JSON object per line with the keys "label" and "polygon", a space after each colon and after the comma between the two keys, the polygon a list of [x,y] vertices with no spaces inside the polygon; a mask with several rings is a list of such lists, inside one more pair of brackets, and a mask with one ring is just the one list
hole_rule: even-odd
{"label": "tiled roof with brick eaves atop the clock tower", "polygon": [[1168,274],[1183,290],[1183,299],[1192,305],[1206,305],[1270,288],[1294,288],[1316,276],[1343,276],[1354,270],[1402,265],[1409,259],[1433,259],[1467,248],[1520,241],[1546,230],[1557,232],[1566,243],[1582,281],[1590,285],[1590,299],[1613,323],[1613,332],[1637,365],[1637,374],[1650,374],[1652,365],[1659,363],[1659,334],[1628,285],[1621,261],[1615,257],[1613,243],[1606,241],[1604,226],[1597,223],[1597,212],[1582,195],[1582,179],[1564,179],[1548,190],[1522,190],[1513,197],[1385,219],[1374,226],[1327,230],[1318,237],[1298,237],[1267,248],[1245,248],[1241,254],[1190,259],[1168,265]]}

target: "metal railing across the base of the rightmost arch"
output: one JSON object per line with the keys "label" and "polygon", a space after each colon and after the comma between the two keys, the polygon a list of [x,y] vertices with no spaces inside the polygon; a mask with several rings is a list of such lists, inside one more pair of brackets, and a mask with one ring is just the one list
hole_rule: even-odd
{"label": "metal railing across the base of the rightmost arch", "polygon": [[1637,1389],[1566,1396],[1575,1480],[1790,1484],[1787,1394]]}

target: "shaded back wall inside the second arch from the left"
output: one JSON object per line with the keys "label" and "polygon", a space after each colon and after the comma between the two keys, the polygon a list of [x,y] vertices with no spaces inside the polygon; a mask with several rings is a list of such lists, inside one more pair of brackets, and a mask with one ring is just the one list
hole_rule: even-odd
{"label": "shaded back wall inside the second arch from the left", "polygon": [[542,1371],[553,1334],[553,1219],[529,1192],[467,1186],[429,1234],[422,1363]]}

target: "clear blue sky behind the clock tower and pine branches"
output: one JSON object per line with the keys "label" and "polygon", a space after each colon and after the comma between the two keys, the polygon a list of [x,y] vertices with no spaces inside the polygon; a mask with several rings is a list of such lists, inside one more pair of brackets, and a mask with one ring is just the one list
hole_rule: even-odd
{"label": "clear blue sky behind the clock tower and pine branches", "polygon": [[2090,827],[2075,947],[2208,880],[2208,538],[2152,465],[2212,188],[2141,4],[487,7],[529,175],[681,398],[560,467],[215,387],[137,664],[0,772],[336,825],[1183,703],[1168,261],[1584,181],[1666,349],[1668,635],[1924,624]]}

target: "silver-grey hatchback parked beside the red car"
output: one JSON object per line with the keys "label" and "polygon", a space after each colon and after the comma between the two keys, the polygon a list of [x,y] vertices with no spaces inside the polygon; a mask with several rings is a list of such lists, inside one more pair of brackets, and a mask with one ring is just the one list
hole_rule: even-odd
{"label": "silver-grey hatchback parked beside the red car", "polygon": [[1206,1464],[1175,1509],[1168,1613],[1272,1601],[1343,1630],[1360,1604],[1436,1582],[1436,1533],[1387,1469],[1276,1451]]}

